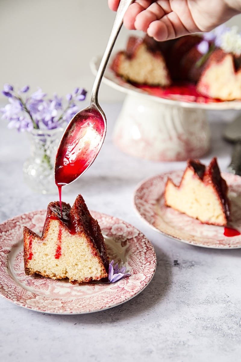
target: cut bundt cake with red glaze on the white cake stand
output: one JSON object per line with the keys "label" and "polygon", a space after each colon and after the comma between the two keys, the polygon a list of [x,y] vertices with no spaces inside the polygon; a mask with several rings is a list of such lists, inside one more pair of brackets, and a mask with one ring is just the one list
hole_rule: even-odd
{"label": "cut bundt cake with red glaze on the white cake stand", "polygon": [[[241,100],[241,34],[234,30],[222,29],[213,37],[210,33],[185,35],[165,42],[147,35],[143,39],[131,36],[126,50],[114,57],[112,69],[134,84],[168,87],[189,82],[200,96]],[[236,39],[236,47],[227,44],[234,42],[232,39]],[[206,52],[202,51],[203,42]]]}

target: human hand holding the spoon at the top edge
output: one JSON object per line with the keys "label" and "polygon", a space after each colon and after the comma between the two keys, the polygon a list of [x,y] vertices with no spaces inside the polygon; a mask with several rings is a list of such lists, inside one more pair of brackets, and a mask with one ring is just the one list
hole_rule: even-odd
{"label": "human hand holding the spoon at the top edge", "polygon": [[[108,0],[116,11],[120,0]],[[241,13],[241,0],[136,0],[124,16],[124,26],[142,30],[157,41],[210,31]]]}

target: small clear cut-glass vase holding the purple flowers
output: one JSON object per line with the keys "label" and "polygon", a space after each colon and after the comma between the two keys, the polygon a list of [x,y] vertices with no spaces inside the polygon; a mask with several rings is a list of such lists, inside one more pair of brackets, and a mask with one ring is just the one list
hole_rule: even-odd
{"label": "small clear cut-glass vase holding the purple flowers", "polygon": [[27,132],[30,140],[30,157],[23,164],[23,178],[35,192],[56,193],[54,165],[63,128]]}

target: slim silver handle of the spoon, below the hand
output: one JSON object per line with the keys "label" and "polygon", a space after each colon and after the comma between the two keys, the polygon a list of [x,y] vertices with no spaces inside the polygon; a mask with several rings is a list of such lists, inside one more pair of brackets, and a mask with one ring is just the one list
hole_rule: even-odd
{"label": "slim silver handle of the spoon, below the hand", "polygon": [[120,4],[119,7],[117,9],[116,12],[116,17],[113,23],[113,27],[111,30],[111,34],[109,35],[109,40],[106,46],[106,50],[104,51],[102,60],[100,62],[100,66],[98,69],[98,72],[96,74],[95,77],[95,81],[94,81],[94,85],[92,88],[92,93],[91,93],[91,103],[95,103],[97,105],[99,105],[98,103],[98,91],[99,91],[99,87],[100,87],[100,82],[102,80],[102,77],[104,75],[104,71],[106,69],[108,60],[109,60],[109,56],[111,55],[111,51],[113,49],[113,46],[115,44],[116,38],[119,34],[119,31],[121,29],[122,23],[123,23],[123,18],[125,15],[126,10],[128,9],[129,5],[131,3],[133,3],[134,0],[120,0]]}

